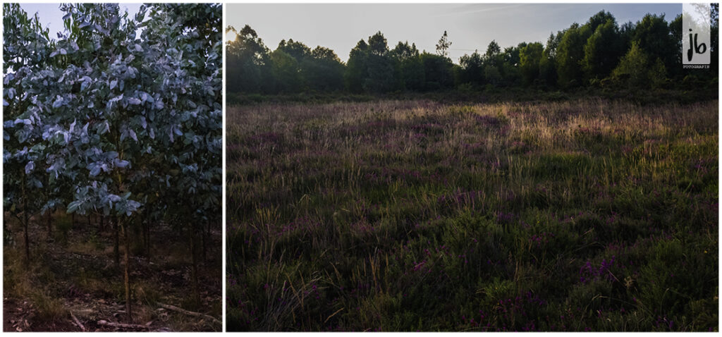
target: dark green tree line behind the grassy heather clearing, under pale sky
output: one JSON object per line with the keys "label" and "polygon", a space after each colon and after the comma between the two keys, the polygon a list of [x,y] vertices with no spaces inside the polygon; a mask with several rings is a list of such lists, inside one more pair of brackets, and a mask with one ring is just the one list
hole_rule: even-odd
{"label": "dark green tree line behind the grassy heather clearing, under pale sky", "polygon": [[682,14],[646,14],[619,25],[609,12],[594,14],[549,35],[546,44],[501,48],[492,40],[483,53],[448,58],[443,32],[435,53],[414,43],[389,48],[382,32],[360,40],[346,63],[334,51],[282,40],[271,51],[250,26],[227,42],[227,91],[266,95],[295,92],[430,92],[444,89],[578,87],[658,89],[695,85],[716,78],[718,4],[712,4],[710,69],[682,68]]}

